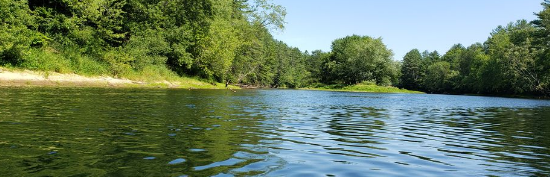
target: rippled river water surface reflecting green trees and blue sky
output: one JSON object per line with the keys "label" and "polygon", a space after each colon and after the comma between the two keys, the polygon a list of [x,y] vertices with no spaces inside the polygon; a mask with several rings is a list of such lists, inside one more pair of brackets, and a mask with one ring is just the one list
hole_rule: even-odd
{"label": "rippled river water surface reflecting green trees and blue sky", "polygon": [[0,176],[549,176],[550,101],[0,88]]}

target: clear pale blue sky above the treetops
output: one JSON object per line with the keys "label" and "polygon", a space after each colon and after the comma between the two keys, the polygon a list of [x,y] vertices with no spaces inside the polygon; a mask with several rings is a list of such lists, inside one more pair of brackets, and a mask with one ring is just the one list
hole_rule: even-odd
{"label": "clear pale blue sky above the treetops", "polygon": [[499,25],[534,20],[542,0],[273,0],[287,10],[276,39],[300,50],[330,51],[334,39],[382,37],[401,60],[411,49],[444,54],[484,42]]}

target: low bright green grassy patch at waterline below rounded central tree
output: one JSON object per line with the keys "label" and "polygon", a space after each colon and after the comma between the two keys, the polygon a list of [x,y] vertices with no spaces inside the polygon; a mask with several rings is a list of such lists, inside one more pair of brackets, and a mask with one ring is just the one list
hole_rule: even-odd
{"label": "low bright green grassy patch at waterline below rounded central tree", "polygon": [[344,91],[344,92],[371,92],[371,93],[424,93],[419,91],[400,89],[392,86],[379,86],[370,82],[363,82],[356,85],[317,85],[315,87],[303,88],[306,90],[323,91]]}

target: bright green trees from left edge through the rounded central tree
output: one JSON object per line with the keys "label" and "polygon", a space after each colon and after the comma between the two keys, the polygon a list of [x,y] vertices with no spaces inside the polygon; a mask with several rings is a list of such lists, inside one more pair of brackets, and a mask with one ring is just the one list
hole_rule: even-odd
{"label": "bright green trees from left edge through the rounded central tree", "polygon": [[269,0],[0,0],[0,12],[3,66],[263,87],[398,80],[381,39],[312,54],[275,40],[286,11]]}

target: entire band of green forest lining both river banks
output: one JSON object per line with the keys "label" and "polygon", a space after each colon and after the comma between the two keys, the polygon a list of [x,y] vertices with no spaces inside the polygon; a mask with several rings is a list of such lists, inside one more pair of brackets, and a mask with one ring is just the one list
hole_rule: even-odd
{"label": "entire band of green forest lining both river banks", "polygon": [[[131,79],[200,77],[273,88],[360,83],[428,93],[550,95],[550,1],[483,43],[393,59],[382,38],[350,35],[301,51],[271,35],[269,0],[0,0],[0,66]],[[442,39],[444,40],[444,39]]]}

